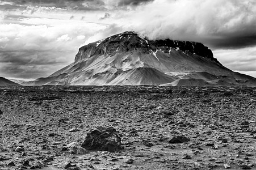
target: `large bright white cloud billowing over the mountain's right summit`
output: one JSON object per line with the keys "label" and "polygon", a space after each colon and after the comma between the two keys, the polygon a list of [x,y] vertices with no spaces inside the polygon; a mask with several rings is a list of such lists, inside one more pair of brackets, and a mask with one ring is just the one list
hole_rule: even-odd
{"label": "large bright white cloud billowing over the mountain's right summit", "polygon": [[[170,38],[202,41],[211,46],[236,46],[243,44],[235,42],[234,38],[256,33],[256,3],[252,0],[156,0],[111,16],[108,22],[143,32],[151,39]],[[225,43],[221,42],[223,40]]]}

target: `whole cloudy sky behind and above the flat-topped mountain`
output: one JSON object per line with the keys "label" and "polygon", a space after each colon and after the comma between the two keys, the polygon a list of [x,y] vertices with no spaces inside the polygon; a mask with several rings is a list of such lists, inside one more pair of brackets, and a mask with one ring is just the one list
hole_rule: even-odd
{"label": "whole cloudy sky behind and above the flat-topped mountain", "polygon": [[123,31],[203,42],[256,77],[255,0],[0,0],[0,76],[48,76],[82,45]]}

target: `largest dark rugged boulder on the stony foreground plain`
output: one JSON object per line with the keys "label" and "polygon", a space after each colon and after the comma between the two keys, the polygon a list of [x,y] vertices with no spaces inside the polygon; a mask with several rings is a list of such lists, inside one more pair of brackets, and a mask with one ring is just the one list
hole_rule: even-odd
{"label": "largest dark rugged boulder on the stony foreground plain", "polygon": [[121,138],[112,126],[99,126],[87,133],[82,147],[87,150],[115,152],[121,148]]}

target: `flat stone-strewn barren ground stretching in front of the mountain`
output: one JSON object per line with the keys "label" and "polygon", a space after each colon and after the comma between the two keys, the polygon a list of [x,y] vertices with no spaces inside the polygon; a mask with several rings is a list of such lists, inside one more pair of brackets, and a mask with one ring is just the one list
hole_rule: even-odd
{"label": "flat stone-strewn barren ground stretching in front of the mountain", "polygon": [[256,169],[256,88],[1,87],[0,109],[0,169]]}

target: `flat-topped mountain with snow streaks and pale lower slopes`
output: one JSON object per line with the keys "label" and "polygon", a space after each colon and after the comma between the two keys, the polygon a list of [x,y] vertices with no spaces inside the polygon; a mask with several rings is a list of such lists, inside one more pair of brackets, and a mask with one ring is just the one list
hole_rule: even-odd
{"label": "flat-topped mountain with snow streaks and pale lower slopes", "polygon": [[70,65],[26,83],[43,84],[255,87],[256,79],[227,69],[202,43],[123,32],[82,46]]}

